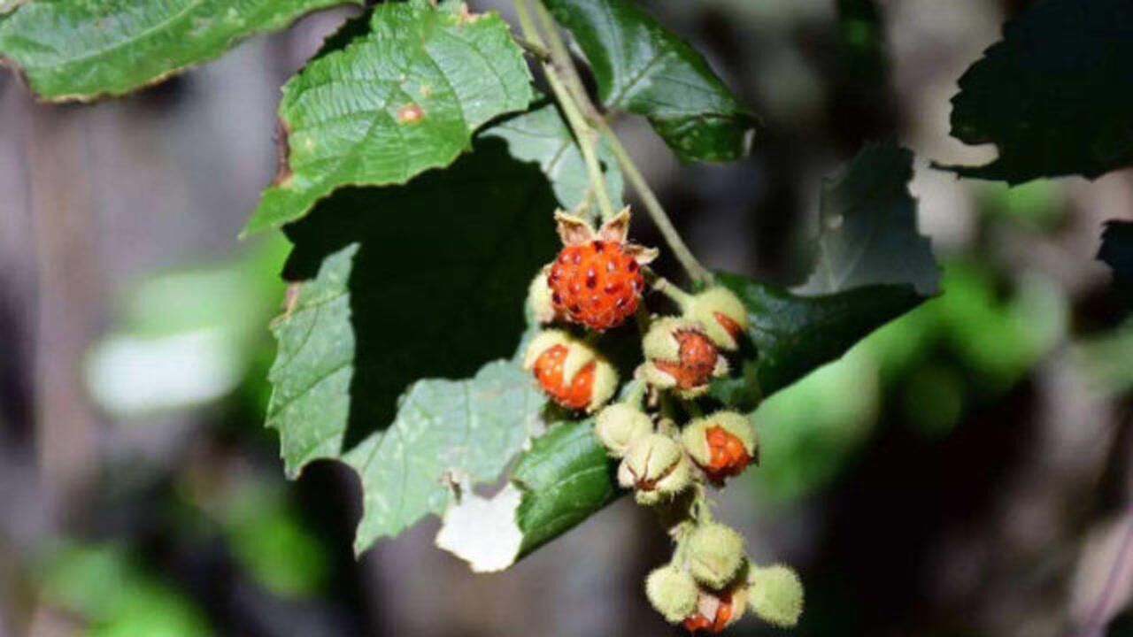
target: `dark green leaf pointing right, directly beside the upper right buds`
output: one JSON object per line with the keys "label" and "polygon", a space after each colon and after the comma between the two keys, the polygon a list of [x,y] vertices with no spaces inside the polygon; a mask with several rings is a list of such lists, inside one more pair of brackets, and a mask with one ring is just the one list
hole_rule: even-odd
{"label": "dark green leaf pointing right, directly beside the upper right buds", "polygon": [[738,373],[713,383],[712,396],[742,410],[813,370],[840,358],[874,330],[920,305],[910,286],[867,286],[803,297],[741,274],[721,272],[716,282],[748,308],[748,337]]}

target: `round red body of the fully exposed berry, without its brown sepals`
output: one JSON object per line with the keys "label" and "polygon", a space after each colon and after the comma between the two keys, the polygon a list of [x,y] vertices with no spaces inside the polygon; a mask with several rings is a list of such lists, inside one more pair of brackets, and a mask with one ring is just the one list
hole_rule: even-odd
{"label": "round red body of the fully exposed berry, without its brown sepals", "polygon": [[594,239],[563,247],[547,284],[555,311],[591,330],[608,330],[637,312],[645,278],[624,244]]}

